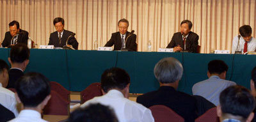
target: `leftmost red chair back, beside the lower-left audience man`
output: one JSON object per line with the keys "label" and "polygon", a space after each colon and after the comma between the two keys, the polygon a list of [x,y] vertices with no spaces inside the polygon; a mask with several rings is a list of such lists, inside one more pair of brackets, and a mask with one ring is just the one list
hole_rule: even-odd
{"label": "leftmost red chair back, beside the lower-left audience man", "polygon": [[51,99],[45,105],[44,114],[49,115],[69,115],[70,102],[65,100],[56,91],[51,90]]}

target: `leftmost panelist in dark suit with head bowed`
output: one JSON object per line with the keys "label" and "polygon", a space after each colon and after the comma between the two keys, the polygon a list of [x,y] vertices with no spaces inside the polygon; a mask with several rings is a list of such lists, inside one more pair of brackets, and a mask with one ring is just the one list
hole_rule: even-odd
{"label": "leftmost panelist in dark suit with head bowed", "polygon": [[3,47],[9,47],[10,45],[16,45],[17,43],[28,44],[28,32],[20,29],[19,22],[13,20],[9,23],[9,30],[5,33],[2,43]]}

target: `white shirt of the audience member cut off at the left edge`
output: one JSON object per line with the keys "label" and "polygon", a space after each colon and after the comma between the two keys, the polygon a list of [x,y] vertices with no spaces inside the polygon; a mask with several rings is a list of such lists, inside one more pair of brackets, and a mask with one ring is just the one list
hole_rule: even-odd
{"label": "white shirt of the audience member cut off at the left edge", "polygon": [[9,89],[3,88],[2,84],[0,83],[0,103],[7,109],[13,112],[15,117],[18,116],[19,112],[16,108],[16,99],[15,94],[10,91]]}

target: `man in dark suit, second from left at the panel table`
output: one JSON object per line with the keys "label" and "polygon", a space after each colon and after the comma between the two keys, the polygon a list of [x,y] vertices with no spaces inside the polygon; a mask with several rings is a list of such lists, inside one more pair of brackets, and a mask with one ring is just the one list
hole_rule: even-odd
{"label": "man in dark suit, second from left at the panel table", "polygon": [[56,31],[51,33],[48,45],[54,45],[54,47],[72,47],[78,49],[78,42],[74,37],[75,33],[64,29],[64,19],[57,17],[53,20]]}

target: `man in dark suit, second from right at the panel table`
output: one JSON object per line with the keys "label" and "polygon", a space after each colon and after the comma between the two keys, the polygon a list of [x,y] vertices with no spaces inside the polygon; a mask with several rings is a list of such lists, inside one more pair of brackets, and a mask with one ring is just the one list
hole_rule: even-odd
{"label": "man in dark suit, second from right at the panel table", "polygon": [[197,52],[199,36],[191,31],[192,22],[183,20],[180,23],[180,32],[174,33],[172,41],[166,48],[173,48],[173,51],[188,50],[188,52]]}

